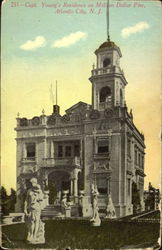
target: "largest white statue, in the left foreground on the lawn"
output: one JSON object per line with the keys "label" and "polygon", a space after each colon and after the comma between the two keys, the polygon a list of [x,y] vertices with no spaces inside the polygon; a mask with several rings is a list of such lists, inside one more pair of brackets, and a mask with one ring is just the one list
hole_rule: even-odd
{"label": "largest white statue, in the left foreground on the lawn", "polygon": [[24,213],[28,225],[27,241],[31,244],[43,244],[45,243],[44,223],[40,219],[43,206],[43,192],[36,178],[31,178],[30,182],[32,187],[27,192],[24,204]]}

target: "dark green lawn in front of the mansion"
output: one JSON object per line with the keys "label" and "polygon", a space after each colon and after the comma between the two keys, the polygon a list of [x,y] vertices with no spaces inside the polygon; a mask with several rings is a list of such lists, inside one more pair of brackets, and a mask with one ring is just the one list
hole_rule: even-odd
{"label": "dark green lawn in front of the mansion", "polygon": [[[66,249],[119,249],[123,246],[155,245],[159,238],[159,224],[149,222],[102,221],[92,227],[87,220],[48,220],[45,222],[44,245],[27,245],[25,224],[3,226],[3,247]],[[6,240],[6,236],[11,241]]]}

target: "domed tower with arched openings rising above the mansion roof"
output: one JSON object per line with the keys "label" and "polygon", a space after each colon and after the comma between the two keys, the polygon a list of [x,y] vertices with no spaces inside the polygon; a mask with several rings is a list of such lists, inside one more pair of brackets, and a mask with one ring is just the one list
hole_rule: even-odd
{"label": "domed tower with arched openings rising above the mansion roof", "polygon": [[120,48],[108,38],[95,51],[97,62],[89,80],[92,83],[92,106],[98,111],[124,107],[127,81],[120,68]]}

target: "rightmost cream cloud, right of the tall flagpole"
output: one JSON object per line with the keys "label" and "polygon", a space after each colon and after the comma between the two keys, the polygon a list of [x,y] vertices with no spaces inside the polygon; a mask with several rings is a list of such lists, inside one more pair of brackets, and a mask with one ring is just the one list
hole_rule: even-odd
{"label": "rightmost cream cloud, right of the tall flagpole", "polygon": [[150,28],[150,25],[148,23],[139,22],[139,23],[136,23],[133,26],[129,26],[129,27],[126,27],[126,28],[122,29],[121,35],[122,35],[122,37],[128,37],[128,36],[130,36],[132,34],[135,34],[137,32],[142,32],[145,29],[149,29],[149,28]]}

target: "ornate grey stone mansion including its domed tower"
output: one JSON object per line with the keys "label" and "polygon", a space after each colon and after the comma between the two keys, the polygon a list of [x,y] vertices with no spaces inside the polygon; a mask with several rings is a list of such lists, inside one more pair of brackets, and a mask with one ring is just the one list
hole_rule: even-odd
{"label": "ornate grey stone mansion including its domed tower", "polygon": [[95,54],[96,67],[89,78],[91,105],[78,102],[63,116],[54,105],[49,116],[17,118],[17,211],[33,176],[43,189],[53,185],[57,205],[66,190],[72,206],[76,211],[81,206],[84,217],[92,213],[92,184],[98,188],[100,213],[106,213],[111,194],[117,217],[132,214],[133,181],[144,207],[144,135],[127,110],[122,54],[109,39]]}

